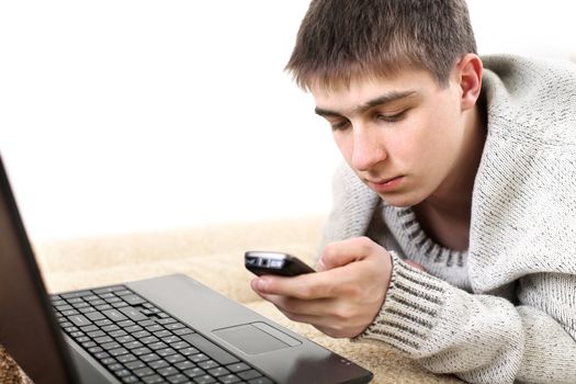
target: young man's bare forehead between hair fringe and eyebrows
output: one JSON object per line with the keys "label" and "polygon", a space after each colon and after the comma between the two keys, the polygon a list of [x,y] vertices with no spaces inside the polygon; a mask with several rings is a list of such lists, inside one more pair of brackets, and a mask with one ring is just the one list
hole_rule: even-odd
{"label": "young man's bare forehead between hair fringe and eyebrows", "polygon": [[326,86],[316,79],[309,89],[317,108],[348,110],[383,94],[416,92],[423,95],[437,88],[437,82],[428,71],[409,69],[386,77],[352,77],[348,84]]}

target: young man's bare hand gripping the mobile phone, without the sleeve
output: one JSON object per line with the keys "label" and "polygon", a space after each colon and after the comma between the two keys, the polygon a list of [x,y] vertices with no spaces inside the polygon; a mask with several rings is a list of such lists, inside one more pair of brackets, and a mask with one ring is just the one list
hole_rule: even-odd
{"label": "young man's bare hand gripping the mobile phone, without the sleeve", "polygon": [[317,273],[264,275],[251,286],[294,321],[331,337],[360,335],[376,317],[392,276],[388,251],[368,237],[329,244]]}

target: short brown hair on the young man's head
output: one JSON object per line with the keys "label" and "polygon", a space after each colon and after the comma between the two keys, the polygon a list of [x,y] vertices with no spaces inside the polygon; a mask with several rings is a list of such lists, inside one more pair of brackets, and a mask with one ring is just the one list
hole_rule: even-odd
{"label": "short brown hair on the young man's head", "polygon": [[313,0],[285,69],[305,90],[406,67],[445,84],[466,53],[476,53],[476,42],[465,0]]}

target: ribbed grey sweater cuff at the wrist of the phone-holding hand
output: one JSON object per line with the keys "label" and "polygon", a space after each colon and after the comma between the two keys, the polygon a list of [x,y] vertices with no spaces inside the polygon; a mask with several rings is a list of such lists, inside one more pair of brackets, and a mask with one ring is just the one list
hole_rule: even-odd
{"label": "ribbed grey sweater cuff at the wrist of the phone-holding hand", "polygon": [[353,341],[380,340],[418,357],[442,310],[450,285],[417,270],[394,252],[392,280],[374,321]]}

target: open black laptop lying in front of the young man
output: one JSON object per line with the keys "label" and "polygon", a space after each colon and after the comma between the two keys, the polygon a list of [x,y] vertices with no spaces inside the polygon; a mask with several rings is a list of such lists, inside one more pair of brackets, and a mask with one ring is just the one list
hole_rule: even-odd
{"label": "open black laptop lying in front of the young man", "polygon": [[372,380],[183,274],[48,295],[1,159],[0,345],[36,384]]}

